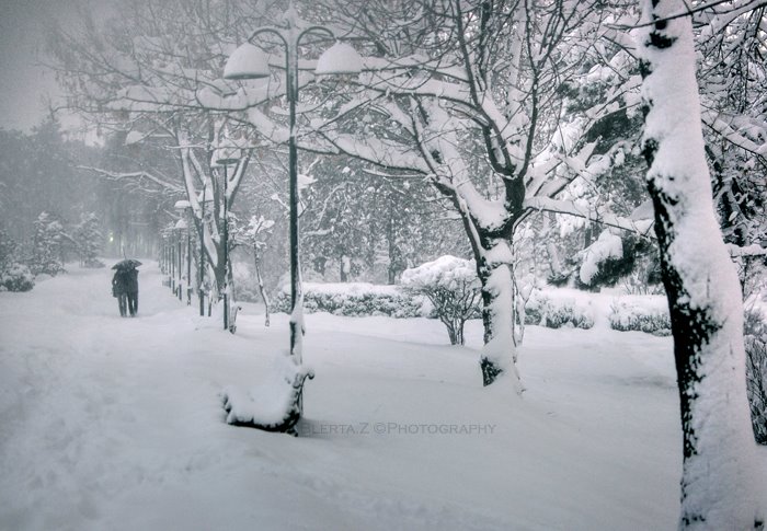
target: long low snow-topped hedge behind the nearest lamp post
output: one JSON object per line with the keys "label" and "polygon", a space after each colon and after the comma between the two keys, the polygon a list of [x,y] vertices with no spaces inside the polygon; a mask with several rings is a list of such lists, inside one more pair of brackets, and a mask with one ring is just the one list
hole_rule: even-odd
{"label": "long low snow-topped hedge behind the nearest lamp post", "polygon": [[[272,301],[275,312],[290,311],[290,286],[284,286]],[[304,309],[308,313],[391,318],[424,316],[423,300],[404,293],[398,286],[367,282],[304,282]]]}

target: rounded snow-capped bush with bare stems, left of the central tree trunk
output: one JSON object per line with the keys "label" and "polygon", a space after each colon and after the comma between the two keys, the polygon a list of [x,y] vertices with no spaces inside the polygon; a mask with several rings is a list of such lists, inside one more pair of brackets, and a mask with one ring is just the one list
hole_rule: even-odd
{"label": "rounded snow-capped bush with bare stems, left of the central tree trunk", "polygon": [[402,287],[426,297],[447,328],[450,344],[463,345],[463,323],[476,314],[481,293],[474,261],[440,256],[405,269]]}

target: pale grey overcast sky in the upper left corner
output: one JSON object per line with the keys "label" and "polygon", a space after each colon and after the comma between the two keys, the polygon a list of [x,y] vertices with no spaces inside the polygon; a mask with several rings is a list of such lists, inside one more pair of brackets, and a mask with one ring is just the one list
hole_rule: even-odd
{"label": "pale grey overcast sky in the upper left corner", "polygon": [[[45,27],[49,21],[65,25],[75,22],[77,0],[0,0],[0,127],[30,128],[39,124],[47,111],[46,95],[59,92],[53,72],[42,64]],[[106,0],[88,0],[103,12]]]}

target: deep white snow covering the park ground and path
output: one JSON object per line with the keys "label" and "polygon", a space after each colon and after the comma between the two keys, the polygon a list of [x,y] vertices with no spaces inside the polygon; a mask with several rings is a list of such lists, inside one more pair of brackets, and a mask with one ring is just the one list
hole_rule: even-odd
{"label": "deep white snow covering the park ground and path", "polygon": [[0,529],[673,529],[682,442],[667,337],[530,326],[523,399],[481,386],[480,323],[307,316],[298,438],[224,423],[218,393],[287,347],[231,335],[141,267],[0,293]]}

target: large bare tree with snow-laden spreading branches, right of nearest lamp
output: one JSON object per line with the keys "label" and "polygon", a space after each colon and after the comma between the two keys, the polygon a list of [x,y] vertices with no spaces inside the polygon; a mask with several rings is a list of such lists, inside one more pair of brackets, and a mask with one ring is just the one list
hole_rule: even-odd
{"label": "large bare tree with snow-laden spreading branches, right of nearest lamp", "polygon": [[[334,3],[350,38],[371,41],[358,92],[318,127],[342,153],[423,175],[459,213],[482,284],[485,385],[516,385],[514,233],[536,210],[565,211],[638,230],[609,212],[584,211],[560,194],[587,174],[595,124],[625,108],[638,78],[625,69],[604,2],[422,0]],[[603,57],[607,56],[607,57]],[[613,61],[606,99],[568,114],[568,88]],[[603,89],[604,90],[604,89]],[[646,227],[645,227],[646,228]]]}

